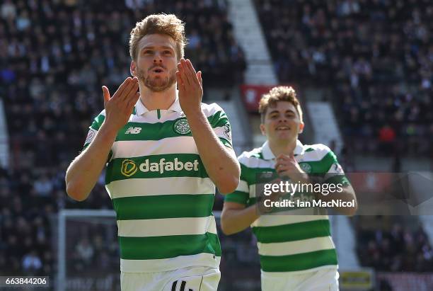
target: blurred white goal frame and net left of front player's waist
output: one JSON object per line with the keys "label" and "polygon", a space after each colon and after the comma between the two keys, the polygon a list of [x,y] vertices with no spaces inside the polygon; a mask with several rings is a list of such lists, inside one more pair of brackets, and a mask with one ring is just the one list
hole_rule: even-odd
{"label": "blurred white goal frame and net left of front player's waist", "polygon": [[62,210],[57,224],[57,288],[120,290],[113,210]]}

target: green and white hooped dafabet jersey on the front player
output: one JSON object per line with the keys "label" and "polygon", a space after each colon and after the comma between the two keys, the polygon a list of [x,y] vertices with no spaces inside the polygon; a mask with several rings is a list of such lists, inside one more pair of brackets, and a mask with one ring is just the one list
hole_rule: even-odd
{"label": "green and white hooped dafabet jersey on the front player", "polygon": [[[202,111],[221,142],[231,147],[230,124],[221,107],[202,103]],[[84,147],[104,119],[105,110],[91,125]],[[112,146],[105,188],[117,216],[122,272],[219,267],[215,186],[178,99],[168,110],[149,111],[137,102]]]}

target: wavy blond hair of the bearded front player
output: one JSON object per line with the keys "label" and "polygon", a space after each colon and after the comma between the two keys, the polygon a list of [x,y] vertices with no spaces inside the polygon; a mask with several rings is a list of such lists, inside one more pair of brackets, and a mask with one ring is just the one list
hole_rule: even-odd
{"label": "wavy blond hair of the bearded front player", "polygon": [[178,60],[185,55],[185,23],[177,18],[174,14],[151,14],[135,24],[131,30],[129,38],[129,55],[133,61],[137,60],[137,50],[139,41],[145,35],[151,34],[168,35],[176,43],[176,52]]}

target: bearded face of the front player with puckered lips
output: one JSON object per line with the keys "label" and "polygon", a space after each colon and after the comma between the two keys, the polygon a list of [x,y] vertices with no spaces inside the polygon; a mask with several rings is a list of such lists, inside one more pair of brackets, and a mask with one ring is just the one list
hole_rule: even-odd
{"label": "bearded face of the front player with puckered lips", "polygon": [[138,44],[137,61],[131,62],[131,74],[151,91],[171,88],[178,64],[175,47],[175,41],[168,35],[145,35]]}

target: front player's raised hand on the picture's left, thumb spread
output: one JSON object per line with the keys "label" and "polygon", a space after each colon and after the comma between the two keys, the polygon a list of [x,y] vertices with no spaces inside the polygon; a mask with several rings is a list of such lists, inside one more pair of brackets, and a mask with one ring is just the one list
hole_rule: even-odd
{"label": "front player's raised hand on the picture's left, thumb spread", "polygon": [[106,86],[102,87],[104,94],[105,123],[113,130],[120,130],[129,120],[140,93],[137,77],[128,77],[119,86],[116,93],[110,97]]}

